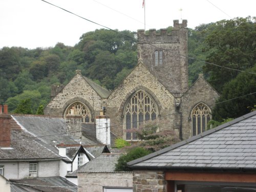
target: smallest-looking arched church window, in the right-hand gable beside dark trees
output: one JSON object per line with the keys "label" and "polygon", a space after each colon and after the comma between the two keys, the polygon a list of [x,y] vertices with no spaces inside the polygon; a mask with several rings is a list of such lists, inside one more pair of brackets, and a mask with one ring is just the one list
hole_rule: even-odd
{"label": "smallest-looking arched church window, in the right-hand gable beside dark trees", "polygon": [[191,113],[193,136],[206,131],[207,123],[211,119],[210,108],[203,103],[198,104]]}

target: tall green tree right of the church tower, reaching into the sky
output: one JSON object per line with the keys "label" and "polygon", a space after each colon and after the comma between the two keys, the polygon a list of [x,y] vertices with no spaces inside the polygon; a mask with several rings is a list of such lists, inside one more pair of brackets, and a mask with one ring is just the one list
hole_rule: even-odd
{"label": "tall green tree right of the church tower, reaching into the sky", "polygon": [[[254,18],[234,18],[221,20],[207,36],[205,42],[210,54],[206,61],[219,66],[246,70],[256,63],[256,24]],[[221,93],[225,83],[235,78],[239,72],[205,65],[205,73],[209,74],[209,82]]]}

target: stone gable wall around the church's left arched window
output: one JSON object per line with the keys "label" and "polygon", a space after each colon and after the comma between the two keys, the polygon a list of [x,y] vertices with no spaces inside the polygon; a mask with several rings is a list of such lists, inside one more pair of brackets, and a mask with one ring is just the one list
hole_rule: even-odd
{"label": "stone gable wall around the church's left arched window", "polygon": [[63,115],[68,106],[76,101],[83,102],[92,113],[99,114],[102,99],[78,72],[73,79],[48,103],[45,115]]}

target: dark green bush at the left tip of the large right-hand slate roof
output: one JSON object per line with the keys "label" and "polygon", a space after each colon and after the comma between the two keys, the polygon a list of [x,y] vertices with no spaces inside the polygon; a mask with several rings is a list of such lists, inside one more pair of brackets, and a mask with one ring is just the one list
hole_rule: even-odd
{"label": "dark green bush at the left tip of the large right-hand slate roof", "polygon": [[130,169],[127,166],[127,162],[138,159],[140,157],[146,156],[150,154],[150,151],[145,150],[145,148],[142,147],[136,147],[133,148],[131,151],[129,151],[127,154],[124,154],[120,156],[118,159],[118,162],[116,164],[115,171],[116,172],[131,172],[132,169]]}

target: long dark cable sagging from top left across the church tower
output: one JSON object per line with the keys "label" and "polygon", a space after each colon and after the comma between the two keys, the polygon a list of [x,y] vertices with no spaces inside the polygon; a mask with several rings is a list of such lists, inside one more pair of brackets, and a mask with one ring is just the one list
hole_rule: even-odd
{"label": "long dark cable sagging from top left across the church tower", "polygon": [[106,27],[106,26],[103,26],[103,25],[98,24],[98,23],[96,23],[96,22],[93,22],[93,21],[90,20],[90,19],[84,18],[84,17],[82,17],[82,16],[80,16],[80,15],[77,15],[77,14],[71,12],[71,11],[68,11],[67,9],[63,9],[63,8],[61,8],[61,7],[59,7],[59,6],[56,6],[56,5],[54,5],[54,4],[51,4],[51,3],[49,3],[49,2],[47,2],[47,1],[45,1],[45,0],[41,0],[41,1],[42,1],[42,2],[45,2],[45,3],[47,3],[47,4],[50,4],[50,5],[54,6],[54,7],[57,7],[57,8],[59,8],[59,9],[63,10],[63,11],[66,11],[66,12],[68,12],[68,13],[70,13],[70,14],[73,14],[73,15],[75,15],[75,16],[77,16],[77,17],[80,17],[80,18],[82,18],[82,19],[84,19],[84,20],[87,20],[88,22],[91,22],[91,23],[93,23],[93,24],[99,25],[99,26],[101,26],[101,27],[104,27],[104,28],[106,28],[106,29],[109,29],[109,30],[111,30],[111,31],[114,31],[114,32],[116,32],[116,33],[119,33],[119,34],[121,34],[121,35],[123,35],[123,36],[132,38],[132,39],[134,39],[134,40],[136,40],[136,41],[139,41],[139,42],[142,42],[142,43],[144,43],[144,44],[147,44],[147,45],[150,45],[150,46],[153,46],[153,47],[162,49],[162,50],[164,50],[164,51],[167,51],[167,52],[170,52],[170,53],[174,53],[174,54],[177,54],[177,55],[180,55],[180,56],[183,56],[183,57],[187,57],[187,58],[190,58],[190,59],[193,59],[193,60],[196,60],[196,61],[204,62],[204,63],[209,64],[209,65],[214,65],[214,66],[217,66],[217,67],[220,67],[220,68],[224,68],[224,69],[228,69],[228,70],[234,70],[234,71],[239,71],[239,72],[244,72],[244,73],[250,73],[250,74],[255,74],[255,75],[256,75],[256,73],[253,73],[253,72],[248,72],[248,71],[243,71],[243,70],[239,70],[239,69],[233,69],[233,68],[228,68],[228,67],[220,66],[220,65],[217,65],[217,64],[215,64],[215,63],[206,62],[206,61],[203,61],[203,60],[200,60],[200,59],[196,59],[196,58],[193,58],[193,57],[189,57],[189,56],[187,56],[187,55],[182,55],[182,54],[180,54],[180,53],[176,53],[176,52],[173,52],[173,51],[170,51],[170,50],[167,50],[167,49],[163,49],[163,48],[161,48],[161,47],[155,46],[155,45],[150,44],[150,43],[148,43],[148,42],[145,42],[145,41],[136,39],[136,38],[134,38],[134,37],[131,37],[131,36],[129,36],[129,35],[126,35],[126,34],[123,34],[123,33],[119,32],[119,31],[116,31],[116,30],[114,30],[114,29],[111,29],[111,28],[109,28],[109,27]]}

